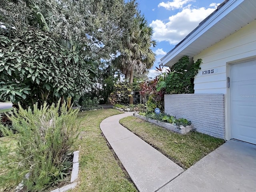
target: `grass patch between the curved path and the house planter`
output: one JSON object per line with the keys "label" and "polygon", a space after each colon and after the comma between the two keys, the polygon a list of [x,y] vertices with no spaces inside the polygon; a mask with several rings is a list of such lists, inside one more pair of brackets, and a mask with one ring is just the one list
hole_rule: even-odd
{"label": "grass patch between the curved path and the house planter", "polygon": [[224,143],[222,139],[199,132],[177,134],[134,116],[121,119],[120,124],[184,169]]}

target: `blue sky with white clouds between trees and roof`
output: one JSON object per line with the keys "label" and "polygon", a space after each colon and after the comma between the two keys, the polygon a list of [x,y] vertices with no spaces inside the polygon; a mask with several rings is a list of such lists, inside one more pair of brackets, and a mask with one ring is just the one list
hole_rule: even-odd
{"label": "blue sky with white clouds between trees and roof", "polygon": [[142,14],[154,29],[153,39],[157,45],[153,48],[156,62],[150,70],[154,72],[160,58],[185,38],[198,24],[211,14],[223,0],[137,0]]}

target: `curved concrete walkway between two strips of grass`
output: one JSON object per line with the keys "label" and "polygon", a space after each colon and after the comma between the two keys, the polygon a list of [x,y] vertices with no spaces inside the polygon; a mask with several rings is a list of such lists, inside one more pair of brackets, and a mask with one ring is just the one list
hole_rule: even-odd
{"label": "curved concrete walkway between two strips of grass", "polygon": [[184,170],[119,124],[124,113],[103,120],[100,129],[140,192],[154,192]]}

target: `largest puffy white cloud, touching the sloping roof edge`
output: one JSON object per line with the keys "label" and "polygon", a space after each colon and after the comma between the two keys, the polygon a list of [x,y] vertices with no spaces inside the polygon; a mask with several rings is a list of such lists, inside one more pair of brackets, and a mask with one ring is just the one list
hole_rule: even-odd
{"label": "largest puffy white cloud, touching the sloping roof edge", "polygon": [[[213,4],[211,5],[213,6]],[[191,8],[191,6],[187,6],[176,15],[170,16],[168,22],[153,20],[150,24],[154,28],[153,39],[158,42],[168,41],[170,44],[175,45],[214,10],[215,8],[211,7]]]}

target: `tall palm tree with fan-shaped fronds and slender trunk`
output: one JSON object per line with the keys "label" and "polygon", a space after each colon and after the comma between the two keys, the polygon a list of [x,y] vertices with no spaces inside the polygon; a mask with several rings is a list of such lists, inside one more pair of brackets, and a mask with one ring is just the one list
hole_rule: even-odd
{"label": "tall palm tree with fan-shaped fronds and slender trunk", "polygon": [[[129,77],[129,83],[132,86],[134,72],[146,72],[150,69],[156,60],[151,46],[156,46],[156,41],[152,40],[153,28],[148,26],[144,16],[134,19],[134,28],[124,34],[122,45],[120,46],[120,56],[113,64],[126,77]],[[130,104],[133,103],[133,97],[130,98]]]}

